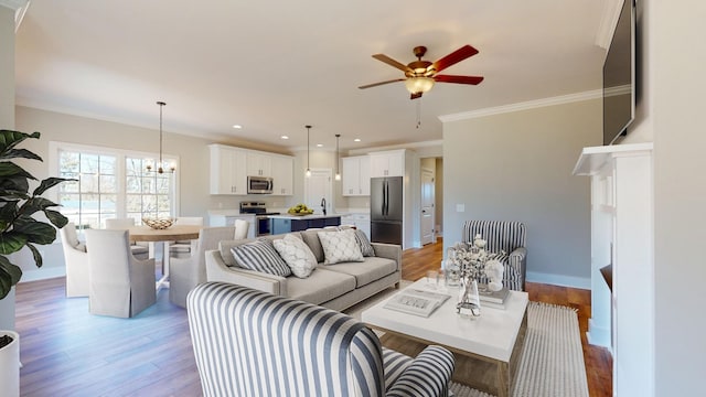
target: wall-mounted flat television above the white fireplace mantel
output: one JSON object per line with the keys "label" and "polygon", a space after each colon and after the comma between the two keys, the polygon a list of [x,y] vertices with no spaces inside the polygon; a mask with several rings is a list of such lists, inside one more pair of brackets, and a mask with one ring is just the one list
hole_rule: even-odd
{"label": "wall-mounted flat television above the white fireplace mantel", "polygon": [[603,62],[603,144],[628,133],[635,115],[635,11],[624,0]]}

